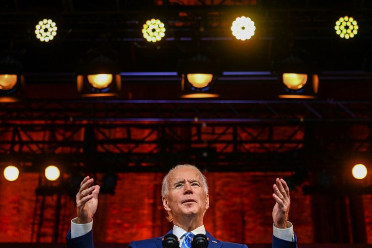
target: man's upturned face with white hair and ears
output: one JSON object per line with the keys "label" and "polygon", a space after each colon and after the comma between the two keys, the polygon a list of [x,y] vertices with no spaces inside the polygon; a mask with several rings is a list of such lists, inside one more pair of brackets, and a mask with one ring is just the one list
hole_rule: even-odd
{"label": "man's upturned face with white hair and ears", "polygon": [[185,167],[174,170],[169,175],[168,188],[167,197],[163,197],[163,205],[166,211],[171,212],[175,221],[178,217],[203,217],[209,208],[209,196],[195,169]]}

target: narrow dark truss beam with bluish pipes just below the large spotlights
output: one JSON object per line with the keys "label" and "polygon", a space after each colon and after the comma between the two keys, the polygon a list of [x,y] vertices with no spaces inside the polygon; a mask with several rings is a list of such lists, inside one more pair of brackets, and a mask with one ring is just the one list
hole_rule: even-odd
{"label": "narrow dark truss beam with bluish pipes just below the large spotlights", "polygon": [[372,101],[23,100],[0,103],[10,121],[369,122]]}

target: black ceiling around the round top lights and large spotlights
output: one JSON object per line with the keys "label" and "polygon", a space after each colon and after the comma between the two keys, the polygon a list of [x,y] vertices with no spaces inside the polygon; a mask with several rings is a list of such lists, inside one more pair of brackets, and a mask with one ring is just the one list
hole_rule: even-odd
{"label": "black ceiling around the round top lights and large spotlights", "polygon": [[[276,82],[273,65],[290,53],[306,54],[320,72],[320,98],[369,99],[371,8],[370,1],[362,0],[4,0],[0,2],[0,57],[10,56],[22,63],[26,86],[53,84],[61,89],[66,84],[76,89],[74,75],[87,51],[113,55],[122,72],[175,72],[182,59],[203,51],[220,62],[222,71],[269,73],[221,75],[217,85],[226,93],[222,98],[265,99],[276,96],[266,89]],[[255,35],[245,42],[230,32],[231,21],[241,15],[250,16],[257,27]],[[353,16],[359,25],[359,33],[349,40],[341,39],[334,30],[335,21],[345,15]],[[141,36],[142,24],[151,17],[161,18],[167,27],[167,36],[157,44],[149,44]],[[34,34],[35,24],[43,18],[52,18],[58,25],[58,35],[48,44],[38,42]],[[124,90],[131,91],[124,98],[178,96],[178,76],[124,76],[123,82],[127,84]],[[136,93],[137,88],[144,88],[143,84],[138,86],[140,82],[147,84],[148,93]],[[154,90],[155,84],[177,90],[165,94]],[[62,91],[57,92],[43,95],[34,91],[28,96],[65,97]]]}

